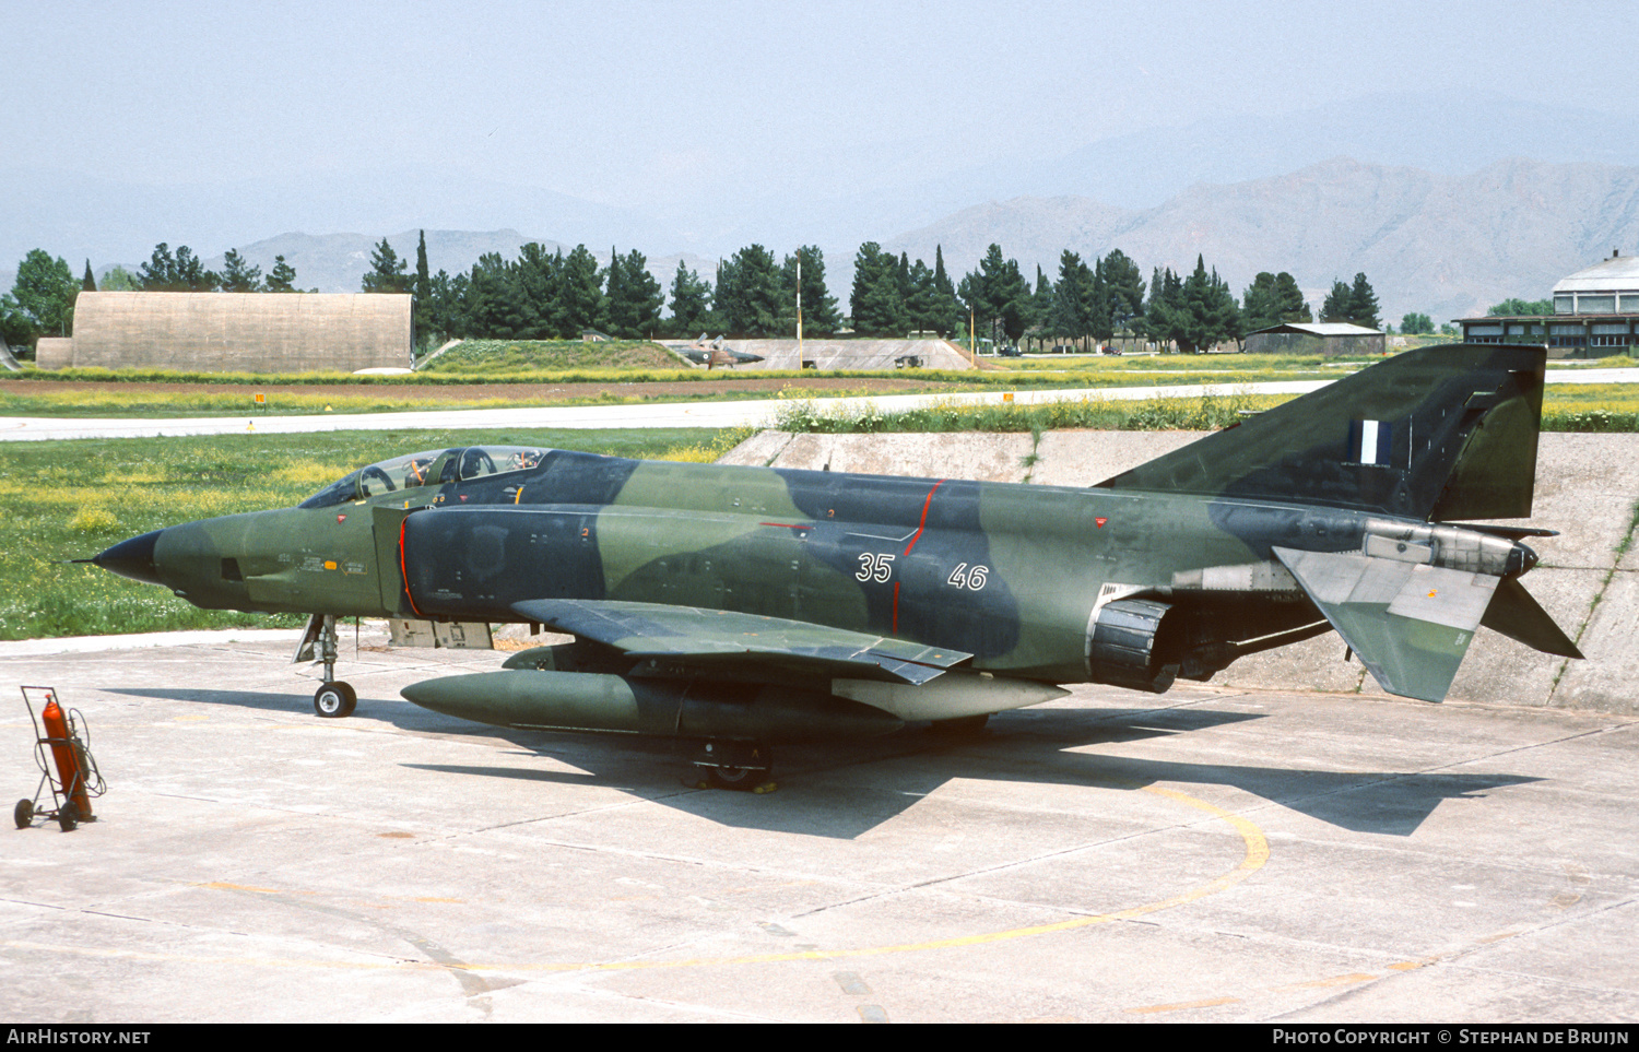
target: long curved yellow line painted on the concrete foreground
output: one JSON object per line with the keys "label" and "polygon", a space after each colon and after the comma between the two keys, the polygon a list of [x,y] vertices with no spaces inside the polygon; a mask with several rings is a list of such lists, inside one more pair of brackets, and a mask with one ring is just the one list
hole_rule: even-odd
{"label": "long curved yellow line painted on the concrete foreground", "polygon": [[[74,954],[82,957],[108,957],[123,960],[175,960],[187,964],[254,964],[269,967],[298,967],[298,968],[428,968],[439,972],[638,972],[638,970],[654,970],[654,968],[700,968],[700,967],[721,967],[721,965],[749,965],[749,964],[782,964],[793,960],[836,960],[842,957],[883,957],[888,954],[915,954],[924,950],[944,950],[944,949],[960,949],[969,945],[985,945],[990,942],[1008,942],[1013,939],[1029,939],[1036,936],[1051,936],[1065,931],[1075,931],[1078,927],[1092,927],[1095,924],[1108,924],[1111,921],[1131,921],[1134,918],[1147,916],[1151,913],[1159,913],[1162,909],[1172,909],[1174,906],[1183,906],[1187,903],[1198,901],[1208,895],[1216,895],[1226,888],[1233,888],[1241,883],[1259,868],[1269,862],[1269,839],[1264,837],[1264,831],[1257,828],[1247,818],[1226,811],[1216,805],[1206,803],[1190,796],[1188,793],[1180,793],[1177,790],[1160,788],[1155,785],[1142,787],[1146,793],[1154,793],[1164,796],[1175,803],[1182,803],[1188,808],[1195,808],[1205,814],[1210,814],[1219,821],[1228,823],[1239,836],[1244,846],[1244,854],[1241,864],[1205,885],[1182,891],[1170,898],[1157,900],[1154,903],[1144,903],[1142,906],[1133,906],[1129,909],[1119,909],[1115,913],[1095,913],[1090,916],[1074,918],[1069,921],[1057,921],[1052,924],[1033,924],[1028,927],[1010,927],[1005,931],[978,932],[972,936],[952,936],[949,939],[928,939],[923,942],[898,942],[890,945],[869,945],[856,949],[834,949],[834,950],[793,950],[785,954],[746,954],[741,957],[687,957],[680,960],[603,960],[603,962],[562,962],[562,964],[465,964],[465,962],[433,962],[433,960],[393,960],[390,964],[380,960],[290,960],[290,959],[261,959],[261,957],[197,957],[190,954],[149,954],[143,950],[100,950],[89,949],[82,945],[59,945],[44,942],[25,942],[16,939],[8,939],[0,942],[8,949],[23,950],[44,950],[57,954]],[[218,888],[218,890],[234,890],[234,891],[252,891],[252,893],[274,893],[270,888],[254,888],[229,883],[202,883],[202,888]],[[308,895],[313,895],[308,891]],[[1369,977],[1370,978],[1370,977]]]}

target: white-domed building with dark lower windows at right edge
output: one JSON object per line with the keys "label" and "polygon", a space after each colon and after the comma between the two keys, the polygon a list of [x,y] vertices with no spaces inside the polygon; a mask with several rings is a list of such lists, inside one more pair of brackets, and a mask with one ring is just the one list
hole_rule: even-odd
{"label": "white-domed building with dark lower windows at right edge", "polygon": [[1639,346],[1639,256],[1611,252],[1554,285],[1552,315],[1459,318],[1475,344],[1547,344],[1549,357],[1606,357]]}

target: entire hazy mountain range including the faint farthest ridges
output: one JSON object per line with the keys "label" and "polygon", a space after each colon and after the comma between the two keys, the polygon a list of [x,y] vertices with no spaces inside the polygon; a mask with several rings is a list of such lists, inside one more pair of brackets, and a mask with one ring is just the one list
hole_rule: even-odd
{"label": "entire hazy mountain range including the faint farthest ridges", "polygon": [[[1259,270],[1290,270],[1314,303],[1333,280],[1364,272],[1387,321],[1411,310],[1439,321],[1541,298],[1613,249],[1639,251],[1639,116],[1619,107],[1411,90],[1092,143],[1067,131],[1028,156],[967,161],[967,151],[906,149],[897,162],[851,151],[829,169],[779,172],[724,162],[693,197],[628,203],[531,185],[526,170],[461,169],[462,159],[210,184],[179,162],[162,185],[11,159],[0,167],[0,267],[44,247],[75,275],[85,257],[97,272],[134,269],[166,241],[211,265],[238,247],[264,272],[284,254],[303,288],[343,292],[359,287],[384,234],[413,265],[425,228],[434,270],[492,251],[511,257],[524,241],[585,243],[600,259],[610,246],[642,251],[669,287],[679,261],[710,279],[716,259],[751,243],[777,257],[818,244],[846,308],[862,241],[929,264],[942,246],[957,275],[997,243],[1029,277],[1037,265],[1056,277],[1062,249],[1085,259],[1121,247],[1146,275],[1193,269],[1201,256],[1236,292]],[[0,270],[0,288],[11,280]]]}

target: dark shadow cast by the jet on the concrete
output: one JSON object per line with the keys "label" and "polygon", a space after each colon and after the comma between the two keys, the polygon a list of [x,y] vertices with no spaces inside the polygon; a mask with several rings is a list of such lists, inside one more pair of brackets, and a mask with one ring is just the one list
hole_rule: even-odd
{"label": "dark shadow cast by the jet on the concrete", "polygon": [[[125,688],[108,693],[300,711],[305,695]],[[1190,764],[1085,752],[1087,747],[1188,734],[1249,719],[1201,706],[1019,710],[992,716],[974,736],[947,737],[923,726],[860,742],[775,750],[774,795],[690,791],[698,782],[687,742],[662,737],[511,731],[441,716],[410,703],[361,700],[354,719],[405,731],[502,739],[529,757],[554,755],[579,770],[505,765],[405,764],[416,770],[546,785],[620,788],[708,821],[769,832],[854,839],[901,814],[956,778],[1141,790],[1155,783],[1239,788],[1318,821],[1382,836],[1411,836],[1444,800],[1539,782],[1526,775],[1328,772],[1293,767]],[[864,777],[862,777],[864,775]],[[800,806],[782,806],[793,801]]]}

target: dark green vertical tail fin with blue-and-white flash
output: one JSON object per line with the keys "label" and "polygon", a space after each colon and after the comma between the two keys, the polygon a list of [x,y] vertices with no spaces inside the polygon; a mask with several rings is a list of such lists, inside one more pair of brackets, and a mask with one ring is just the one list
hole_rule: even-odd
{"label": "dark green vertical tail fin with blue-and-white flash", "polygon": [[1421,347],[1100,482],[1437,519],[1523,518],[1546,347]]}

